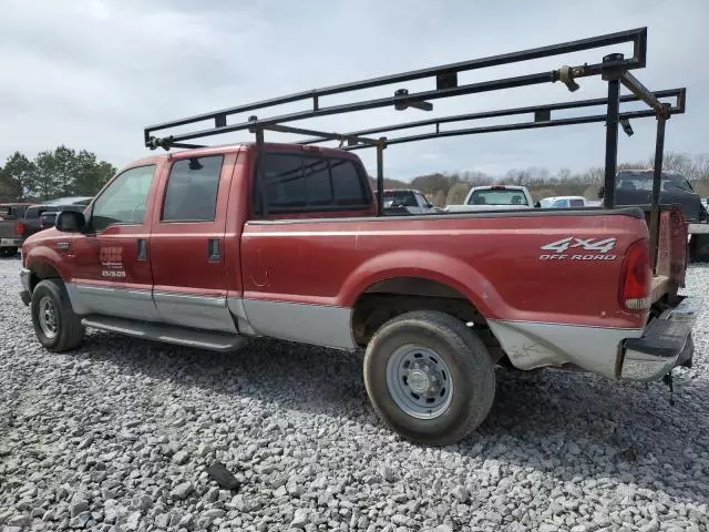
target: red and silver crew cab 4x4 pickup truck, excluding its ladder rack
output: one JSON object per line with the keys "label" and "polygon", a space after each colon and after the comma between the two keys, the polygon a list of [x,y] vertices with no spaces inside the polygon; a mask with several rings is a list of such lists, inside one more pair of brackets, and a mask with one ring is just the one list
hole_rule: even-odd
{"label": "red and silver crew cab 4x4 pickup truck, excluding its ladder rack", "polygon": [[[136,161],[22,246],[47,349],[86,327],[230,351],[248,337],[366,350],[367,391],[433,444],[487,416],[495,365],[661,379],[692,358],[686,224],[664,208],[657,275],[636,207],[376,216],[351,152],[264,144]],[[264,208],[266,207],[266,208]],[[549,289],[553,287],[553,289]]]}

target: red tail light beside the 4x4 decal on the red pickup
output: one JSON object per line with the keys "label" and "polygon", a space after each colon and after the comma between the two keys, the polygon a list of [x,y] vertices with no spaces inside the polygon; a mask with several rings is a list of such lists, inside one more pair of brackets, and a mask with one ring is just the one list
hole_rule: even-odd
{"label": "red tail light beside the 4x4 decal on the red pickup", "polygon": [[650,246],[644,238],[630,245],[623,262],[620,305],[628,310],[650,308],[651,279]]}

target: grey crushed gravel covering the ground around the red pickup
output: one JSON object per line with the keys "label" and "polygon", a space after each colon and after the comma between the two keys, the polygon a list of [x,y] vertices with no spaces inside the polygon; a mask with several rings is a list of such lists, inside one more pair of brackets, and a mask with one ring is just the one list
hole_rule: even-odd
{"label": "grey crushed gravel covering the ground around the red pickup", "polygon": [[[675,406],[661,383],[499,370],[487,421],[433,449],[378,422],[358,356],[276,341],[224,356],[107,334],[50,355],[19,268],[0,260],[6,531],[709,526],[708,313]],[[692,266],[688,291],[709,297],[708,282]],[[235,475],[223,487],[215,464]]]}

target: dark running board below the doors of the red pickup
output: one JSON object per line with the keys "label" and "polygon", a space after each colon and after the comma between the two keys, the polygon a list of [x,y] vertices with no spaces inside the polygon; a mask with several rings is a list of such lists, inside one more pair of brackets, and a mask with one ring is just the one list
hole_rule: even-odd
{"label": "dark running board below the doors of the red pickup", "polygon": [[135,321],[132,319],[114,318],[109,316],[86,316],[81,320],[85,327],[119,332],[144,340],[162,341],[177,346],[197,347],[210,351],[227,352],[238,349],[246,344],[246,338],[238,335],[216,332],[212,330],[197,330],[187,327],[178,327],[167,324],[151,321]]}

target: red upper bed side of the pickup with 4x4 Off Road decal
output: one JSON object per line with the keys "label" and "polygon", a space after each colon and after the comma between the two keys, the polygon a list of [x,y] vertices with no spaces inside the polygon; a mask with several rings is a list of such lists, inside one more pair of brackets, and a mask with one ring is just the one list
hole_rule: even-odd
{"label": "red upper bed side of the pickup with 4x4 Off Road decal", "polygon": [[[244,297],[352,307],[374,283],[420,277],[458,289],[487,319],[641,327],[618,285],[625,250],[647,236],[641,218],[574,212],[248,222]],[[542,249],[567,237],[615,243]]]}

